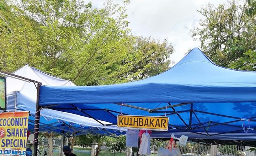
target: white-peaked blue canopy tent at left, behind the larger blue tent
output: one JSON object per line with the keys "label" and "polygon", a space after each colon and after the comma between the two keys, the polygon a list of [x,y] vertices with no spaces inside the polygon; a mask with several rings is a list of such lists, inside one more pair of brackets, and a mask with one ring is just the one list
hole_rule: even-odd
{"label": "white-peaked blue canopy tent at left, behind the larger blue tent", "polygon": [[[43,82],[45,85],[75,86],[70,80],[63,80],[25,65],[13,74]],[[33,82],[25,82],[7,77],[7,111],[29,111],[28,130],[34,132],[37,89]],[[101,121],[103,124],[111,124]],[[66,137],[80,134],[116,136],[124,129],[116,126],[103,126],[99,122],[80,115],[50,109],[41,110],[40,132],[51,131]]]}

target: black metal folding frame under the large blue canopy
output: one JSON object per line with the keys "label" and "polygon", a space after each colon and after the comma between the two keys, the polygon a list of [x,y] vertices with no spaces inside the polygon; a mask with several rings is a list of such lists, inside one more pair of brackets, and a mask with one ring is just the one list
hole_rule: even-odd
{"label": "black metal folding frame under the large blue canopy", "polygon": [[[142,111],[148,111],[149,113],[152,113],[152,114],[154,114],[154,113],[168,113],[168,114],[163,114],[163,115],[158,115],[158,116],[176,115],[183,122],[184,127],[178,127],[178,126],[169,124],[169,126],[171,126],[171,128],[176,128],[176,129],[179,129],[179,130],[189,131],[189,132],[193,132],[193,133],[196,133],[196,134],[202,134],[202,135],[207,135],[207,136],[225,134],[225,133],[230,133],[230,132],[243,131],[242,127],[232,125],[232,123],[243,121],[243,120],[248,120],[248,119],[242,119],[240,117],[234,117],[234,116],[228,116],[228,115],[221,115],[221,114],[217,114],[217,113],[210,113],[210,112],[205,112],[205,111],[194,110],[193,109],[193,105],[194,104],[191,103],[191,102],[189,102],[189,103],[180,103],[180,104],[175,104],[175,105],[172,105],[170,102],[167,102],[167,104],[169,106],[165,106],[165,107],[161,107],[161,108],[154,108],[154,109],[143,108],[143,107],[133,106],[131,104],[124,104],[124,103],[115,103],[115,104],[120,105],[120,106],[129,107],[129,108],[135,108],[135,109],[142,110]],[[175,107],[177,107],[177,106],[183,106],[183,105],[188,105],[188,104],[190,104],[190,110],[176,111],[176,109],[175,109]],[[51,105],[51,106],[56,106],[56,105]],[[129,115],[129,114],[125,114],[123,112],[118,112],[118,111],[114,111],[114,110],[110,110],[110,109],[106,109],[106,108],[104,108],[104,109],[100,109],[100,108],[85,108],[85,109],[81,109],[81,108],[77,108],[73,104],[72,104],[72,106],[74,107],[73,110],[78,109],[80,112],[84,113],[88,117],[91,117],[95,121],[98,121],[98,120],[95,119],[94,117],[92,117],[91,115],[89,115],[88,113],[85,113],[85,111],[89,111],[89,110],[90,111],[106,111],[106,112],[108,112],[110,115],[112,115],[115,118],[117,118],[117,116],[114,115],[113,113],[117,113],[117,114],[121,114],[122,113],[124,115]],[[49,106],[43,106],[43,108],[46,108],[46,107],[48,108]],[[167,108],[171,108],[172,111],[161,111],[161,110],[164,110],[164,109],[166,110]],[[54,108],[52,108],[52,109],[54,109]],[[70,108],[61,108],[61,109],[70,109]],[[111,113],[111,112],[113,112],[113,113]],[[186,123],[184,121],[184,119],[180,115],[180,113],[185,113],[185,112],[190,112],[190,114],[189,114],[189,123]],[[215,116],[225,117],[225,118],[228,118],[228,119],[235,119],[235,120],[227,121],[227,122],[222,122],[222,123],[217,123],[217,122],[213,122],[213,121],[207,121],[207,122],[201,123],[200,119],[196,115],[197,113],[204,113],[204,114],[209,114],[209,115],[215,115]],[[193,117],[195,117],[197,119],[198,123],[196,123],[196,124],[192,123],[192,118]],[[256,122],[256,120],[253,120],[255,118],[256,117],[250,118],[250,121]],[[100,124],[102,124],[102,123],[100,123]],[[208,124],[208,125],[205,125],[205,124]],[[104,124],[102,124],[102,125],[104,125]],[[113,125],[113,124],[110,124],[110,125]],[[197,125],[197,126],[195,126],[195,125]],[[220,125],[235,127],[235,128],[238,128],[238,130],[229,131],[229,132],[220,132],[220,133],[217,133],[217,134],[209,134],[208,130],[206,129],[206,128],[209,128],[209,127],[220,126]],[[104,125],[104,126],[109,126],[109,125]],[[171,129],[171,128],[169,128],[169,129]],[[195,130],[200,130],[200,129],[203,129],[204,132],[206,132],[206,134],[203,134],[201,132],[195,132]],[[250,130],[256,130],[256,128],[249,128],[249,129]]]}

